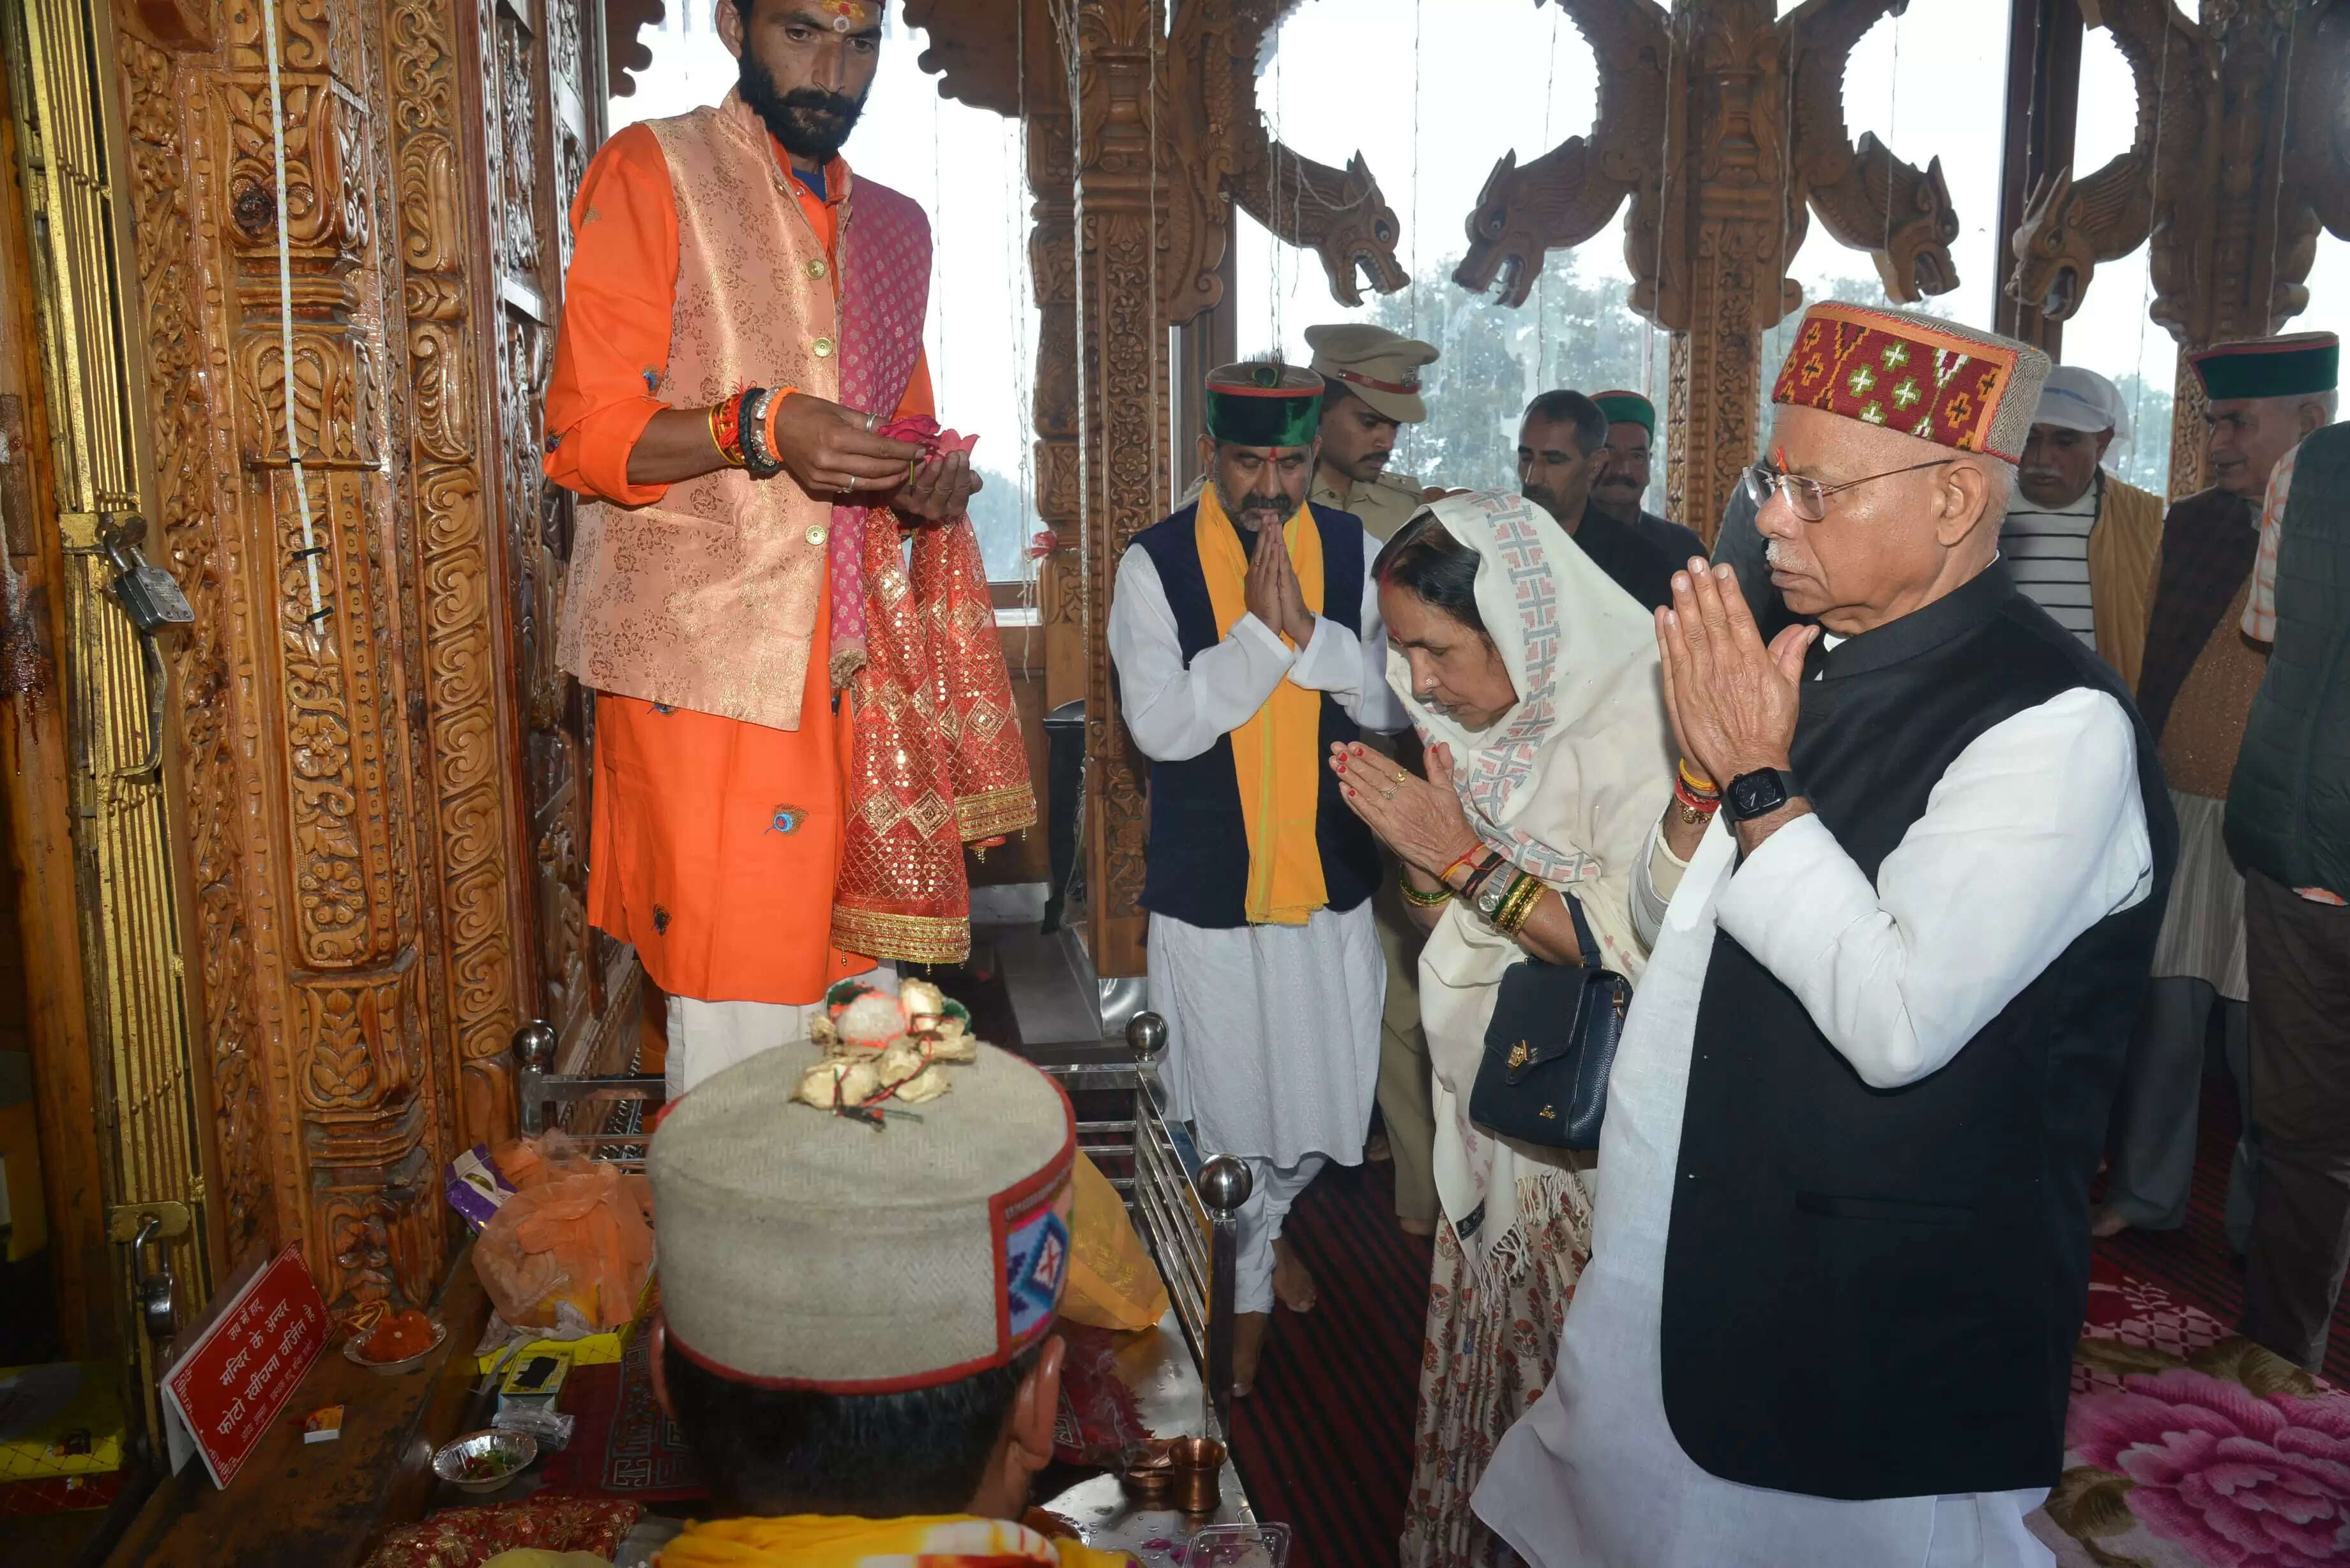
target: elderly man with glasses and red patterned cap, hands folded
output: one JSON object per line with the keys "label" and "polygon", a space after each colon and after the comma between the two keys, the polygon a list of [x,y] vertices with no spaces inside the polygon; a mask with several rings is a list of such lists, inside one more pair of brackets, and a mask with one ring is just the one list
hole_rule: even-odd
{"label": "elderly man with glasses and red patterned cap, hands folded", "polygon": [[[1565,1563],[2049,1563],[2089,1178],[2176,851],[2120,677],[1998,564],[2037,350],[1814,306],[1770,644],[1657,611],[1676,802],[1584,1269],[1478,1514]],[[1896,1439],[1896,1441],[1894,1441]]]}

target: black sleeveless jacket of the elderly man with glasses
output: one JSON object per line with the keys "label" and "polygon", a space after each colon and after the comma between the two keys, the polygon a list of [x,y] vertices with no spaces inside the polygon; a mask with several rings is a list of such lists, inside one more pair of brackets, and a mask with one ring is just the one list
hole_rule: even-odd
{"label": "black sleeveless jacket of the elderly man with glasses", "polygon": [[[1871,1088],[1716,933],[1664,1262],[1664,1408],[1727,1481],[1817,1497],[2052,1486],[2089,1291],[2089,1178],[2178,858],[2129,691],[1990,567],[1802,682],[1795,776],[1875,879],[1967,745],[2094,686],[2131,715],[2153,891],[1939,1072]],[[2016,889],[2028,898],[2030,889]]]}

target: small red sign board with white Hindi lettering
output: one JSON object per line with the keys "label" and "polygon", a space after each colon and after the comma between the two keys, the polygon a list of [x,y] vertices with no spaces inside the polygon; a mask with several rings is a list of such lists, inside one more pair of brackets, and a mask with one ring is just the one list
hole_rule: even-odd
{"label": "small red sign board with white Hindi lettering", "polygon": [[164,1403],[186,1422],[214,1486],[235,1479],[322,1349],[327,1302],[301,1248],[289,1246],[172,1363]]}

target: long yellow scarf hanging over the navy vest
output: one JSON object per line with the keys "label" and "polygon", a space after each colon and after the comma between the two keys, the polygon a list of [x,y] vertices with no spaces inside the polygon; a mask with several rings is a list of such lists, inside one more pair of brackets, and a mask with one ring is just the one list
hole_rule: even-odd
{"label": "long yellow scarf hanging over the navy vest", "polygon": [[[1281,531],[1297,588],[1307,609],[1318,616],[1323,559],[1314,508],[1300,505]],[[1194,534],[1208,604],[1215,609],[1215,635],[1229,637],[1248,614],[1248,552],[1241,550],[1215,484],[1198,491]],[[1290,642],[1288,635],[1281,639]],[[1330,903],[1321,875],[1321,839],[1314,835],[1321,811],[1321,691],[1283,677],[1264,708],[1231,731],[1231,771],[1241,783],[1241,823],[1248,827],[1248,924],[1302,926]]]}

